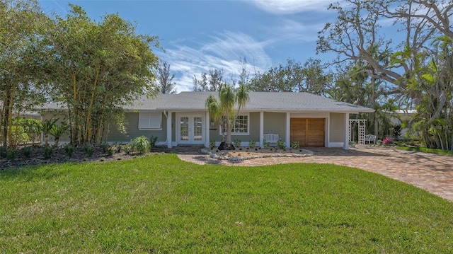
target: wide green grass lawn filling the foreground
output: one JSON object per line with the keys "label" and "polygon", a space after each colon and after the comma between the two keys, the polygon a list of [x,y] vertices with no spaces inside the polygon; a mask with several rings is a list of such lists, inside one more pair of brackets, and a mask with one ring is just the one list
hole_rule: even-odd
{"label": "wide green grass lawn filling the foreground", "polygon": [[52,164],[0,197],[0,253],[453,252],[452,202],[343,166]]}

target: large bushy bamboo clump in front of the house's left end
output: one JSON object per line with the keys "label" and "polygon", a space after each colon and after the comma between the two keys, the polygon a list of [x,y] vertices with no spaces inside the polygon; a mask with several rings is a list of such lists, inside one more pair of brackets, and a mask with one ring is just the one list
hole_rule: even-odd
{"label": "large bushy bamboo clump in front of the house's left end", "polygon": [[102,142],[123,105],[155,91],[152,70],[159,59],[151,47],[158,46],[157,37],[137,35],[117,14],[96,23],[80,6],[70,6],[49,35],[54,96],[69,112],[71,142]]}

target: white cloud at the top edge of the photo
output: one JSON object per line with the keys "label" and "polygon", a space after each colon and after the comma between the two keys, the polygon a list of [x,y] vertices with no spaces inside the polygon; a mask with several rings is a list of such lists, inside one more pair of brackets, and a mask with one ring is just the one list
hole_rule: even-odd
{"label": "white cloud at the top edge of the photo", "polygon": [[333,0],[251,0],[258,8],[275,14],[326,11]]}

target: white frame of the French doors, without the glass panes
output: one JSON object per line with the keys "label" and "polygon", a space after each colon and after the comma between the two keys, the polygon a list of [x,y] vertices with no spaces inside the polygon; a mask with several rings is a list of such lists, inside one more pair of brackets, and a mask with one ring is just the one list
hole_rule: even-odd
{"label": "white frame of the French doors, without the glass panes", "polygon": [[[181,140],[181,117],[188,117],[188,140]],[[194,129],[194,118],[201,118],[201,140],[195,140],[195,129]],[[178,144],[205,144],[206,139],[206,117],[205,112],[188,112],[188,113],[177,113],[176,114],[176,143]]]}

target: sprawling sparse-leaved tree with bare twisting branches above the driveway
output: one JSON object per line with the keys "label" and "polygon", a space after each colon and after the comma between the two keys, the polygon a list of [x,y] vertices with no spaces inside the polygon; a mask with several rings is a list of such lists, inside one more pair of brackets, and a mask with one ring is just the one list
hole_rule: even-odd
{"label": "sprawling sparse-leaved tree with bare twisting branches above the driveway", "polygon": [[[317,52],[336,52],[336,62],[367,62],[380,79],[394,84],[391,93],[403,93],[414,75],[415,58],[405,62],[382,63],[375,59],[369,47],[379,52],[410,52],[418,54],[428,49],[435,37],[453,37],[450,19],[453,4],[445,0],[347,0],[336,2],[329,9],[338,13],[335,23],[326,23],[319,32]],[[383,22],[394,21],[395,32],[405,33],[402,42],[393,42],[380,33]],[[400,26],[398,26],[400,25]],[[389,28],[388,28],[389,29]]]}

